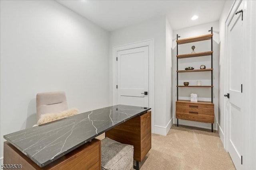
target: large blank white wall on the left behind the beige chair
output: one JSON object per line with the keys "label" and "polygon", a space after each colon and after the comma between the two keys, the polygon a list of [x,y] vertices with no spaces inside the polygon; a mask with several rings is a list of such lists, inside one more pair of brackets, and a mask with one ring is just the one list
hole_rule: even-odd
{"label": "large blank white wall on the left behind the beige chair", "polygon": [[36,123],[36,94],[65,91],[80,112],[109,102],[108,32],[55,1],[0,1],[3,135]]}

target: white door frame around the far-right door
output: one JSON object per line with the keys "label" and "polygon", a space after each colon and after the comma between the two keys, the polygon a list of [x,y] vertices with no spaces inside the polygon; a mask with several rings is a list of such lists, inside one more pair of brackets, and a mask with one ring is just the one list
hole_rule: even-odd
{"label": "white door frame around the far-right door", "polygon": [[[243,149],[243,168],[244,169],[255,169],[256,164],[254,160],[256,160],[256,153],[252,152],[252,150],[256,149],[255,143],[256,143],[256,107],[255,107],[255,83],[256,83],[256,76],[254,75],[255,72],[255,45],[256,45],[256,16],[255,16],[255,7],[256,2],[254,1],[247,1],[243,0],[244,5],[244,61],[243,61],[243,72],[245,75],[243,76],[242,83],[243,83],[243,101],[242,101],[242,107],[243,107],[243,113],[244,113],[244,119],[243,121],[244,127],[241,127],[244,129],[244,134],[242,138],[244,139],[244,149]],[[230,21],[232,20],[233,16],[235,15],[239,5],[242,3],[242,0],[235,0],[232,4],[232,7],[228,13],[228,16],[225,21],[225,80],[224,80],[224,94],[228,92],[227,88],[227,78],[228,73],[226,70],[229,70],[228,68],[228,57],[230,56],[229,51],[229,37],[228,37],[228,25],[230,24]],[[232,97],[232,96],[230,96]],[[228,138],[229,138],[229,112],[226,111],[226,105],[227,105],[228,99],[225,99],[224,101],[224,149],[228,151]]]}

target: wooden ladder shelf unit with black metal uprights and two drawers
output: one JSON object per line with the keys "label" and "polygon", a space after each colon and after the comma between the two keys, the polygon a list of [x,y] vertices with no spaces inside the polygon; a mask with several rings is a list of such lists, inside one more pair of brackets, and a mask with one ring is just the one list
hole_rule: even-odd
{"label": "wooden ladder shelf unit with black metal uprights and two drawers", "polygon": [[[212,131],[213,131],[213,123],[214,123],[214,104],[213,104],[213,65],[212,65],[212,27],[211,34],[202,35],[198,37],[186,38],[186,39],[178,39],[179,36],[177,34],[177,101],[176,101],[176,118],[177,125],[178,119],[185,119],[190,121],[200,121],[205,123],[212,123]],[[205,41],[211,40],[211,51],[205,51],[200,53],[191,53],[191,54],[178,54],[178,45],[185,43],[192,43],[197,41]],[[201,57],[201,56],[211,56],[211,68],[205,69],[196,69],[196,70],[178,70],[178,59],[190,58],[190,57]],[[208,86],[183,86],[178,85],[178,74],[179,73],[189,73],[189,72],[211,72],[211,84]],[[211,102],[206,101],[198,101],[198,102],[190,102],[190,100],[179,100],[178,92],[179,88],[211,88]]]}

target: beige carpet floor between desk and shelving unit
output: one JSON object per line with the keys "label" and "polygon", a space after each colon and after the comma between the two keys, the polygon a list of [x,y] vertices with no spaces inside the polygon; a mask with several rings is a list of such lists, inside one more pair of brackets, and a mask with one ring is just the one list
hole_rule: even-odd
{"label": "beige carpet floor between desk and shelving unit", "polygon": [[[104,134],[98,139],[103,139]],[[135,161],[134,161],[135,165]],[[140,170],[235,170],[216,131],[173,125],[167,136],[152,134]]]}

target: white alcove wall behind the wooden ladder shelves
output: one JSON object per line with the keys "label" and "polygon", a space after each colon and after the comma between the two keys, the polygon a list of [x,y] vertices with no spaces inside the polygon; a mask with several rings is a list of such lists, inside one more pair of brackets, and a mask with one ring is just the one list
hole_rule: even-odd
{"label": "white alcove wall behind the wooden ladder shelves", "polygon": [[[173,36],[176,37],[178,34],[179,39],[196,37],[200,35],[209,34],[208,30],[213,27],[213,103],[214,103],[214,129],[216,129],[216,123],[218,123],[218,65],[219,65],[219,24],[218,21],[211,22],[207,24],[197,25],[194,27],[188,27],[184,29],[174,30]],[[173,55],[172,55],[172,112],[175,113],[176,101],[177,101],[177,47],[176,39],[172,43]],[[211,41],[200,41],[195,43],[182,44],[178,46],[178,54],[188,54],[191,53],[192,45],[194,45],[195,52],[211,51]],[[174,55],[175,54],[175,55]],[[195,69],[200,69],[200,65],[204,64],[206,68],[211,68],[211,56],[204,57],[193,57],[186,59],[179,59],[178,70],[184,70],[188,66],[193,66]],[[201,80],[202,86],[211,85],[211,72],[191,72],[191,73],[179,73],[178,84],[183,85],[183,82],[189,82],[189,85],[196,85],[196,81]],[[211,101],[211,88],[179,88],[179,99],[180,100],[190,100],[190,94],[195,93],[198,95],[198,100]],[[177,119],[174,119],[175,123]],[[181,125],[189,125],[195,127],[202,127],[206,129],[211,129],[210,123],[202,123],[196,121],[179,120]]]}

